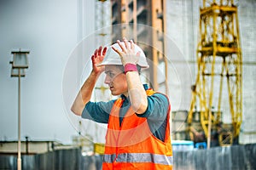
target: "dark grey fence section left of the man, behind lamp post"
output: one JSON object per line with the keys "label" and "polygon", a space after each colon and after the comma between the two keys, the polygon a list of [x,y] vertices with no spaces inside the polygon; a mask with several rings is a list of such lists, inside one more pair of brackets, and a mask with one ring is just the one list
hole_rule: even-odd
{"label": "dark grey fence section left of the man, behind lamp post", "polygon": [[[55,150],[38,155],[22,155],[23,170],[100,170],[102,156],[82,156],[81,150]],[[0,170],[17,169],[17,156],[0,155]]]}

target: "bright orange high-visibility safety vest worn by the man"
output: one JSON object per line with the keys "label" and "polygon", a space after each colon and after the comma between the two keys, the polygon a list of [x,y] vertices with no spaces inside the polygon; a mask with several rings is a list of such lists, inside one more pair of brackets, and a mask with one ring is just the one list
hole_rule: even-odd
{"label": "bright orange high-visibility safety vest worn by the man", "polygon": [[[146,90],[147,95],[155,92]],[[148,127],[145,117],[139,117],[131,107],[119,126],[119,110],[123,99],[113,104],[108,120],[105,154],[102,169],[172,169],[169,105],[165,141],[157,139]]]}

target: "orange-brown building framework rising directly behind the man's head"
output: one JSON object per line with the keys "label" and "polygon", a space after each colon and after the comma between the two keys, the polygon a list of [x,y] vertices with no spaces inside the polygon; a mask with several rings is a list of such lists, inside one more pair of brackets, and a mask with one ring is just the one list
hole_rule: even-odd
{"label": "orange-brown building framework rising directly behind the man's head", "polygon": [[[148,58],[150,69],[143,77],[150,88],[168,94],[167,60],[165,56],[166,1],[113,0],[113,41],[133,39]],[[160,77],[161,75],[161,77]]]}

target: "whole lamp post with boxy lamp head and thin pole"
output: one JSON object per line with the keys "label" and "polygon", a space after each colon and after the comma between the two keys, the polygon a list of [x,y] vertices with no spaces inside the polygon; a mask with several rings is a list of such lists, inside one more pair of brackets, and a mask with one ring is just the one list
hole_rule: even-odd
{"label": "whole lamp post with boxy lamp head and thin pole", "polygon": [[18,77],[18,158],[17,169],[21,170],[21,142],[20,142],[20,77],[25,77],[25,69],[28,68],[27,54],[29,51],[12,51],[13,61],[9,63],[12,65],[11,77]]}

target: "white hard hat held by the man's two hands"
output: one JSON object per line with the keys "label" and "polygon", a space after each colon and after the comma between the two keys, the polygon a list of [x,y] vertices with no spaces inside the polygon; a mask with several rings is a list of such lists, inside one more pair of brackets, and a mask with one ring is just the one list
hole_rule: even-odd
{"label": "white hard hat held by the man's two hands", "polygon": [[[121,42],[121,44],[125,47],[125,42]],[[131,45],[130,42],[128,44]],[[101,66],[101,65],[122,65],[119,54],[116,53],[113,50],[112,47],[119,49],[119,51],[122,51],[122,49],[119,47],[119,44],[117,42],[114,43],[112,46],[108,47],[106,55],[105,55],[102,63],[97,65],[97,66]],[[135,49],[136,54],[138,52],[140,52],[140,56],[139,56],[139,60],[137,62],[137,65],[141,66],[142,68],[148,68],[149,65],[148,65],[148,62],[147,62],[147,59],[146,59],[146,55],[143,52],[143,49],[138,47],[137,44],[134,44],[134,49]]]}

